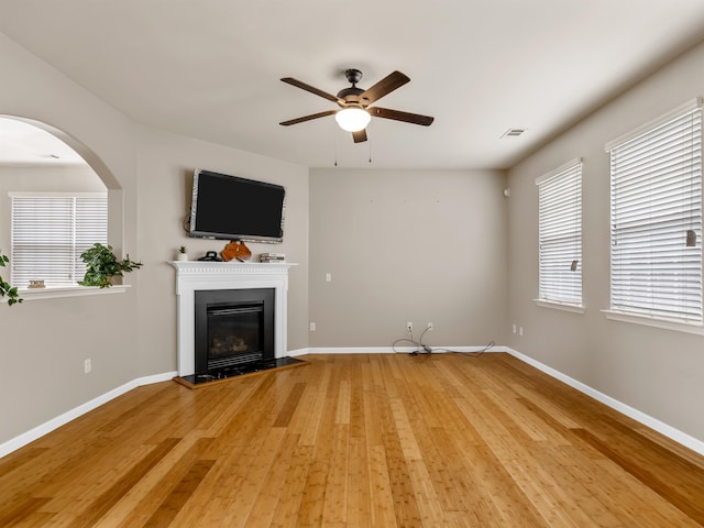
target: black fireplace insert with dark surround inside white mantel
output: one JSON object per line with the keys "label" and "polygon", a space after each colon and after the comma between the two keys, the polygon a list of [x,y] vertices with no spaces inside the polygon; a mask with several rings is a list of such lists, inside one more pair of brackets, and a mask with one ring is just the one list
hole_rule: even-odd
{"label": "black fireplace insert with dark surround inside white mantel", "polygon": [[196,292],[196,374],[275,358],[274,294],[274,288]]}

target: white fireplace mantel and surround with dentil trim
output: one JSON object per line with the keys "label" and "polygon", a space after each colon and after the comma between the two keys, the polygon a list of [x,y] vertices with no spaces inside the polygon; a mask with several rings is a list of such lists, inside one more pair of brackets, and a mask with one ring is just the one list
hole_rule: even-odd
{"label": "white fireplace mantel and surround with dentil trim", "polygon": [[274,354],[287,354],[288,270],[292,263],[170,261],[178,297],[178,375],[195,374],[197,290],[274,288]]}

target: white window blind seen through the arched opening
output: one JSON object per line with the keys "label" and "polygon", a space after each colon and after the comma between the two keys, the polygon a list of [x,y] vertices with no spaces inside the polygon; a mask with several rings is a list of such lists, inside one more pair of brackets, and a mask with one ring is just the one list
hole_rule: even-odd
{"label": "white window blind seen through the arched opening", "polygon": [[11,194],[12,285],[30,280],[75,286],[86,267],[80,254],[108,240],[107,194]]}

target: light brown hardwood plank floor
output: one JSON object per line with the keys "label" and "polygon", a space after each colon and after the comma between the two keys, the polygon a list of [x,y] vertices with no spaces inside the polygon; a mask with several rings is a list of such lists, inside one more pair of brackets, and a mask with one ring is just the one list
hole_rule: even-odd
{"label": "light brown hardwood plank floor", "polygon": [[306,359],[11,453],[0,526],[704,526],[704,458],[510,355]]}

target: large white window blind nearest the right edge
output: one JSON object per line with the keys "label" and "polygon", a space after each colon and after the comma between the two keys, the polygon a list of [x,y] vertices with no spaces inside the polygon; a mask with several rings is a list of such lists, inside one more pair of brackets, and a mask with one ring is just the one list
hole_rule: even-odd
{"label": "large white window blind nearest the right edge", "polygon": [[610,309],[701,323],[701,101],[607,150]]}

